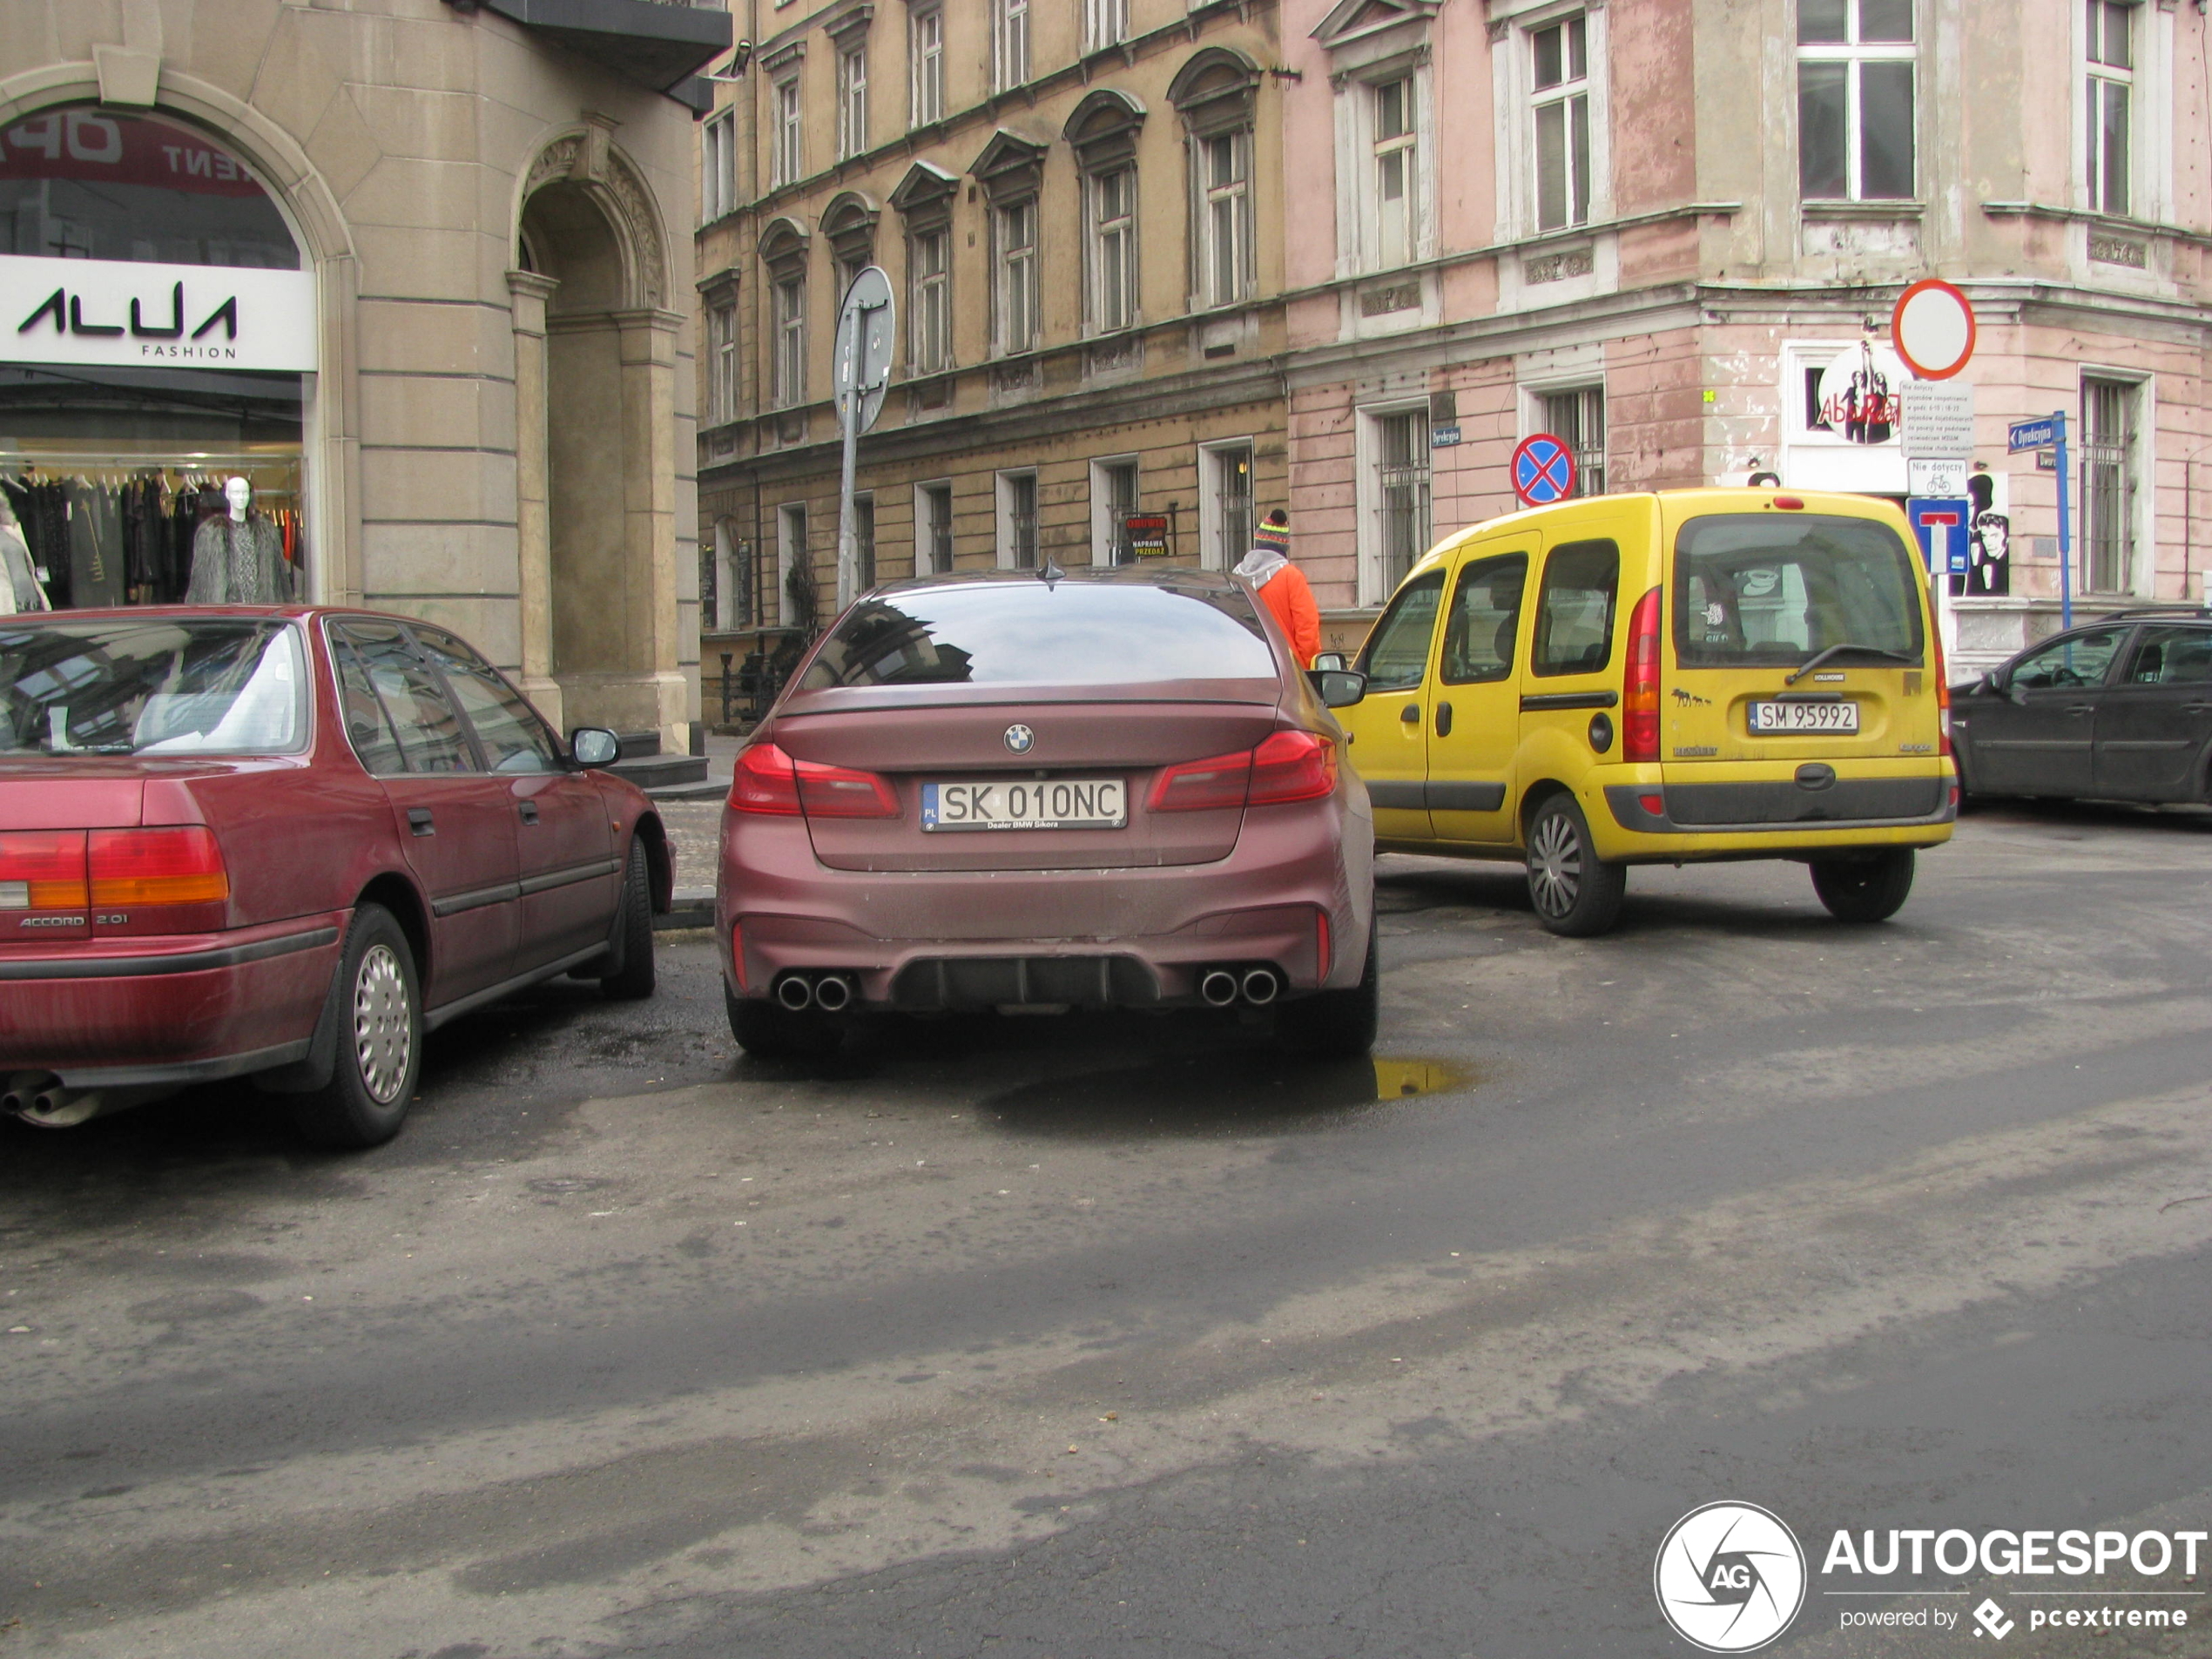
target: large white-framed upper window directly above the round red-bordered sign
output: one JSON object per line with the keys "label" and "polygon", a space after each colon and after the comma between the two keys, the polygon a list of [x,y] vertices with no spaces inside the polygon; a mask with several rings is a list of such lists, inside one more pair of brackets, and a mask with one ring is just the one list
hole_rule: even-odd
{"label": "large white-framed upper window directly above the round red-bordered sign", "polygon": [[1798,195],[1913,195],[1913,0],[1798,0]]}

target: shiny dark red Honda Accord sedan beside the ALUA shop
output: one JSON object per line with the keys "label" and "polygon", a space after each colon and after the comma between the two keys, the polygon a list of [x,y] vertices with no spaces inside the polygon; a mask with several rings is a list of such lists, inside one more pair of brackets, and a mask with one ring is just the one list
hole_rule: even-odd
{"label": "shiny dark red Honda Accord sedan beside the ALUA shop", "polygon": [[555,973],[650,995],[672,872],[615,750],[400,617],[0,619],[0,1110],[252,1075],[374,1146],[425,1031]]}

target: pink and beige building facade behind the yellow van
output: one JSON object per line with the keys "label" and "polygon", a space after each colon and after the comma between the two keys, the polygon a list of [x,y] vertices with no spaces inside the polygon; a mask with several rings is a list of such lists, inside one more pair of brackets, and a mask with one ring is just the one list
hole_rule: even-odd
{"label": "pink and beige building facade behind the yellow van", "polygon": [[[2199,602],[2212,549],[2205,15],[2170,0],[1283,0],[1290,495],[1352,639],[1436,538],[1582,489],[1907,495],[1889,314],[1978,349],[1958,661]],[[1874,418],[1867,418],[1874,416]]]}

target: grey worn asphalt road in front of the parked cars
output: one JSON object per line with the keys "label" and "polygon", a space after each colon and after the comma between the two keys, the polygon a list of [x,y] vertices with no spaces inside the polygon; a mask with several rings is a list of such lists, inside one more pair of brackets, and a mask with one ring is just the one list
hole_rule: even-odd
{"label": "grey worn asphalt road in front of the parked cars", "polygon": [[[774,1068],[679,933],[440,1033],[365,1157],[243,1091],[0,1126],[0,1657],[1686,1655],[1710,1500],[1814,1566],[2212,1526],[2208,887],[2203,814],[2020,807],[1887,927],[1734,865],[1564,942],[1389,858],[1376,1068]],[[1829,1584],[1776,1652],[1989,1652],[1840,1628],[1984,1590],[2212,1652]]]}

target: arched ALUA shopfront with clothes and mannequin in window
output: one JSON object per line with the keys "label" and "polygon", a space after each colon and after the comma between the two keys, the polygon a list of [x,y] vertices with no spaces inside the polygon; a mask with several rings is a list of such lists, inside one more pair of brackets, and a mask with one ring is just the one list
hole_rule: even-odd
{"label": "arched ALUA shopfront with clothes and mannequin in window", "polygon": [[321,597],[316,341],[299,239],[208,135],[0,128],[0,500],[53,606]]}

